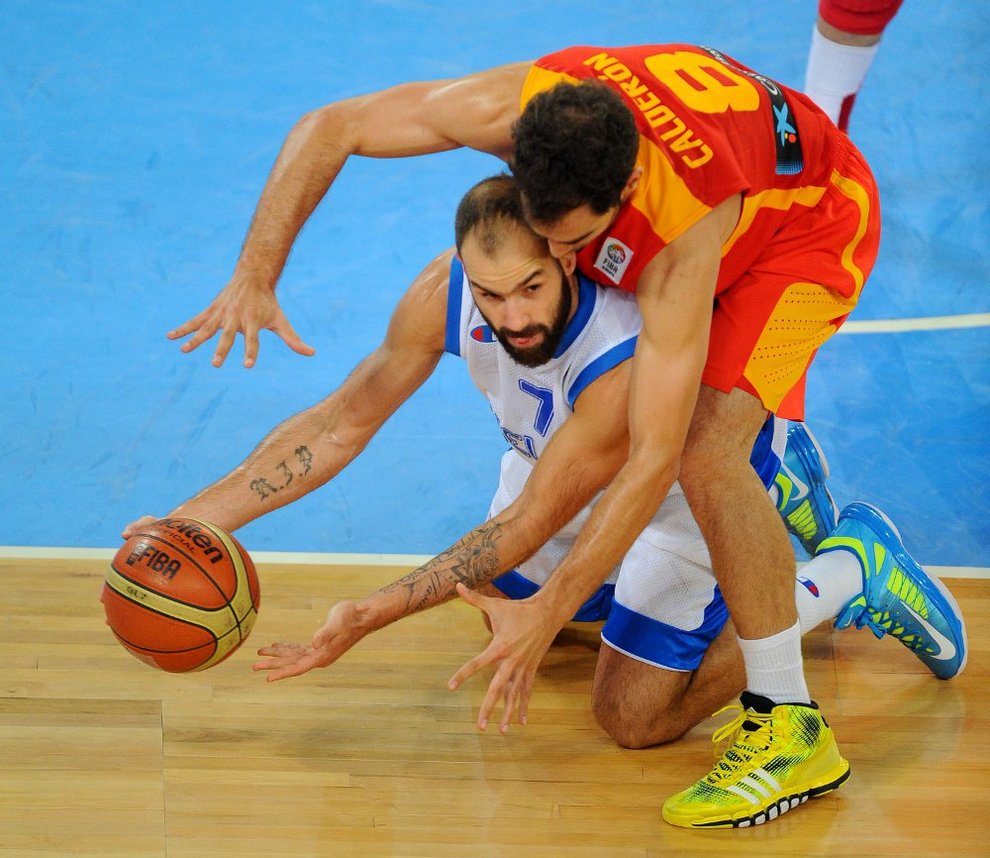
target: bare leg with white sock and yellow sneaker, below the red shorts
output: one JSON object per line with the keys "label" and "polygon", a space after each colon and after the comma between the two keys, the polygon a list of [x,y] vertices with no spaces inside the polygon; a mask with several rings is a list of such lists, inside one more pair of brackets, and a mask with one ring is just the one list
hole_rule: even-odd
{"label": "bare leg with white sock and yellow sneaker, below the red shorts", "polygon": [[721,759],[665,802],[674,825],[759,824],[849,773],[805,684],[787,531],[748,459],[739,461],[764,416],[744,390],[705,387],[689,433],[681,478],[736,625],[746,691]]}

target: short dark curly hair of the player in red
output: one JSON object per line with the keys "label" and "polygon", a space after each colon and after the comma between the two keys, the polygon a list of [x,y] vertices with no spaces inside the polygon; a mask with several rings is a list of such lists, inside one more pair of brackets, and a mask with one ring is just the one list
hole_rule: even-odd
{"label": "short dark curly hair of the player in red", "polygon": [[585,204],[596,214],[618,205],[639,151],[632,111],[598,81],[558,83],[534,96],[512,136],[512,173],[536,223]]}

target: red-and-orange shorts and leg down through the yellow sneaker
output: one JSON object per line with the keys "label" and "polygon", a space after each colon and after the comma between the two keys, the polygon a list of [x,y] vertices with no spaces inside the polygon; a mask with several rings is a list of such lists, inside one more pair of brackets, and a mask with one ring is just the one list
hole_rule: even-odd
{"label": "red-and-orange shorts and leg down through the yellow sneaker", "polygon": [[793,551],[739,456],[761,403],[803,417],[807,368],[855,305],[878,243],[875,182],[850,144],[818,206],[719,296],[681,479],[740,636],[747,711],[708,775],[665,803],[664,819],[675,825],[759,824],[848,776],[804,686]]}

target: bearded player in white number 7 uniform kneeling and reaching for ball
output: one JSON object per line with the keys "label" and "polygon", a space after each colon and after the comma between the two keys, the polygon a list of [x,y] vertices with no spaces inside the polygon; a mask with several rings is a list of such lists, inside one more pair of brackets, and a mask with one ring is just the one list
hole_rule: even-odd
{"label": "bearded player in white number 7 uniform kneeling and reaching for ball", "polygon": [[[595,495],[626,460],[635,298],[575,276],[566,260],[562,267],[526,226],[508,176],[469,191],[456,234],[458,255],[441,254],[416,278],[385,341],[338,390],[280,424],[243,464],[170,513],[236,530],[296,500],[352,461],[444,353],[466,360],[509,444],[491,518],[402,579],[334,605],[310,645],[262,648],[255,668],[269,680],[327,667],[370,632],[458,592],[485,609],[492,595],[525,600],[549,580]],[[784,423],[771,418],[754,447],[753,465],[774,491],[785,437]],[[295,474],[288,482],[287,468]],[[818,542],[835,531],[832,515]],[[862,610],[854,607],[870,601],[855,550],[836,547],[795,582],[803,631],[844,608],[845,624],[858,623]],[[920,567],[913,574],[917,586],[941,592]],[[736,637],[676,484],[606,583],[582,595],[575,619],[604,620],[593,708],[620,744],[675,739],[742,691]],[[964,658],[964,634],[954,643]],[[940,665],[926,664],[938,672]],[[503,714],[503,731],[510,717]],[[479,726],[486,721],[480,716]]]}

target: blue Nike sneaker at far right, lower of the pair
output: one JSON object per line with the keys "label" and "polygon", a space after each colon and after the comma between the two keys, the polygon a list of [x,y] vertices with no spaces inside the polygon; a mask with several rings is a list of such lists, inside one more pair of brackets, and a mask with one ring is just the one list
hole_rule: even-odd
{"label": "blue Nike sneaker at far right, lower of the pair", "polygon": [[966,623],[948,588],[908,554],[893,522],[876,507],[851,503],[835,534],[818,549],[851,551],[863,569],[863,592],[836,618],[835,627],[869,626],[893,635],[939,679],[962,672],[968,656]]}

